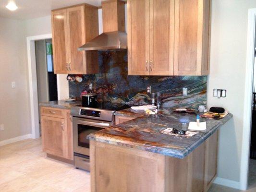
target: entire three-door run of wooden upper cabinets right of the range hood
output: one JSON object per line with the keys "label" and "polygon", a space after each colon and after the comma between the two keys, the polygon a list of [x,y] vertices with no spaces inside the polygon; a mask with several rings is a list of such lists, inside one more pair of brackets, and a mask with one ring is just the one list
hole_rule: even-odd
{"label": "entire three-door run of wooden upper cabinets right of the range hood", "polygon": [[210,0],[127,0],[129,75],[209,72]]}

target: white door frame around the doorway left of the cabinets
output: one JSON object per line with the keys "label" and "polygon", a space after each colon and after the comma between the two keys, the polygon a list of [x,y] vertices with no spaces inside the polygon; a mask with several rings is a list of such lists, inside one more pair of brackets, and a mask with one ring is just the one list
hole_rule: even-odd
{"label": "white door frame around the doorway left of the cabinets", "polygon": [[[29,84],[29,103],[30,103],[30,120],[32,138],[36,139],[40,137],[39,129],[39,113],[38,113],[38,97],[37,97],[37,68],[36,68],[36,49],[35,41],[50,39],[52,34],[45,34],[39,36],[27,36],[27,64],[28,64],[28,84]],[[63,79],[63,78],[62,78]],[[57,92],[58,99],[61,98],[61,77],[57,74]],[[68,82],[67,82],[68,84]],[[67,85],[68,86],[68,85]]]}

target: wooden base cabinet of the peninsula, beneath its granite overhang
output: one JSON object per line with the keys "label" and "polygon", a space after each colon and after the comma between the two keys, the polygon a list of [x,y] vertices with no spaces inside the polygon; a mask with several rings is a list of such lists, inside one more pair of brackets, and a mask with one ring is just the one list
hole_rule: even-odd
{"label": "wooden base cabinet of the peninsula, beneath its granite overhang", "polygon": [[183,159],[90,141],[91,192],[207,192],[218,132]]}

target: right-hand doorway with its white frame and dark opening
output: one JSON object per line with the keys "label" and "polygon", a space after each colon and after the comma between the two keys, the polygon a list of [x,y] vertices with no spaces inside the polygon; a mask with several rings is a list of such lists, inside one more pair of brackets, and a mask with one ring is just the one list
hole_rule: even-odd
{"label": "right-hand doorway with its white frame and dark opening", "polygon": [[[254,84],[256,84],[256,8],[248,11],[247,59],[244,90],[244,125],[240,167],[240,190],[256,190],[256,127]],[[251,158],[250,158],[251,157]]]}

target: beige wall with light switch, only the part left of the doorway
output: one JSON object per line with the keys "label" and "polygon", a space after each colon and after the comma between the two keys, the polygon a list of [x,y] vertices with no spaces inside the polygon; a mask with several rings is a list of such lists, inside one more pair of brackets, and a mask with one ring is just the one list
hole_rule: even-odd
{"label": "beige wall with light switch, only the part left of the doorway", "polygon": [[[23,25],[21,22],[0,18],[0,141],[29,134],[29,96],[27,65],[21,60]],[[11,82],[16,82],[13,89]]]}

